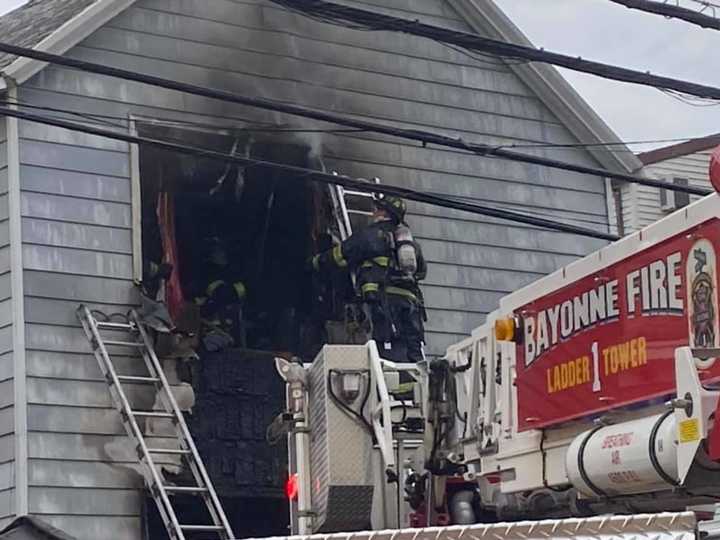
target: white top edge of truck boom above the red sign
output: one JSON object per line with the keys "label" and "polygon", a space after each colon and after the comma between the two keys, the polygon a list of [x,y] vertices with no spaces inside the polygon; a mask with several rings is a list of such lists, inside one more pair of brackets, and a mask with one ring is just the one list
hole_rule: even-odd
{"label": "white top edge of truck boom above the red sign", "polygon": [[538,298],[566,287],[579,279],[602,272],[610,265],[719,215],[720,196],[718,194],[708,195],[636,233],[505,296],[500,300],[500,312],[505,316],[511,315],[515,310]]}

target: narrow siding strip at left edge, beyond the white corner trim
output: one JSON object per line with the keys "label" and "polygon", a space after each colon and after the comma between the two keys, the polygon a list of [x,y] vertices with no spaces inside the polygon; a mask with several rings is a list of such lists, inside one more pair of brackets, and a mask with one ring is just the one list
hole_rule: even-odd
{"label": "narrow siding strip at left edge, beyond the white corner trim", "polygon": [[0,116],[0,523],[15,514],[15,377],[12,346],[7,118]]}

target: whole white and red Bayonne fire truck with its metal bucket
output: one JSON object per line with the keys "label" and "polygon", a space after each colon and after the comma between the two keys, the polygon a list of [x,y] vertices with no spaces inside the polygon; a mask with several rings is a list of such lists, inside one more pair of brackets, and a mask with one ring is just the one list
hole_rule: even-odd
{"label": "whole white and red Bayonne fire truck with its metal bucket", "polygon": [[278,359],[293,533],[700,537],[720,499],[719,255],[711,195],[507,295],[443,358]]}

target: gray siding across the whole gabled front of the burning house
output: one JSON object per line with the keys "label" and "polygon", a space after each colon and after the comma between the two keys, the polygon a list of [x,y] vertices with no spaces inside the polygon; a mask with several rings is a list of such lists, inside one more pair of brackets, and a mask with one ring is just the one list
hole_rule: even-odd
{"label": "gray siding across the whole gabled front of the burning house", "polygon": [[[403,16],[468,28],[440,0],[362,5],[388,4]],[[497,60],[322,25],[265,2],[141,0],[68,54],[490,144],[576,142]],[[24,84],[20,97],[120,118],[329,127],[52,66]],[[318,134],[308,142],[328,169],[344,174],[608,228],[600,178],[366,133]],[[532,151],[597,165],[579,149]],[[129,166],[125,144],[21,124],[29,504],[81,540],[107,530],[119,540],[140,535],[135,457],[73,314],[80,302],[115,311],[134,302]],[[409,222],[430,265],[433,354],[468,335],[504,294],[602,245],[422,204],[410,204]],[[132,358],[119,362],[138,368]]]}

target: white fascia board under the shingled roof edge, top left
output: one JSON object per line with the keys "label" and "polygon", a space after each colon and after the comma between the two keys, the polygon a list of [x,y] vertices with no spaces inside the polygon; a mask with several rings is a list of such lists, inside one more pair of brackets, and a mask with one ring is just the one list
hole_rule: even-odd
{"label": "white fascia board under the shingled roof edge, top left", "polygon": [[[33,49],[52,54],[64,54],[95,30],[132,6],[135,0],[100,0],[88,6],[77,16],[55,30]],[[19,57],[2,73],[20,85],[42,71],[47,63],[27,57]],[[2,89],[2,88],[0,88]]]}

